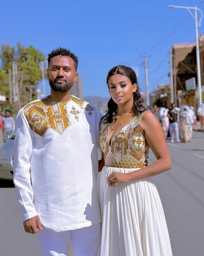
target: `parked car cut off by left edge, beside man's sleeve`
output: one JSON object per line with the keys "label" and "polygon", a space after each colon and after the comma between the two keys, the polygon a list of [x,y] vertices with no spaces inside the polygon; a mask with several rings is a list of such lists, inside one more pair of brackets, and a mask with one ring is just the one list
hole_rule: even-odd
{"label": "parked car cut off by left edge, beside man's sleeve", "polygon": [[15,131],[11,133],[8,140],[0,149],[0,179],[13,180],[13,146]]}

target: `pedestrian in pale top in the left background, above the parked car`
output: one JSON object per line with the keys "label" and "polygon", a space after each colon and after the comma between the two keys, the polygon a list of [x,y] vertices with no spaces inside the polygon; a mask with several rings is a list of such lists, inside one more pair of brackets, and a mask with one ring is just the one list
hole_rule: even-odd
{"label": "pedestrian in pale top in the left background, above the parked car", "polygon": [[5,116],[2,118],[2,132],[3,132],[3,141],[6,140],[11,135],[12,131],[15,129],[15,120],[11,116],[11,110],[5,110]]}

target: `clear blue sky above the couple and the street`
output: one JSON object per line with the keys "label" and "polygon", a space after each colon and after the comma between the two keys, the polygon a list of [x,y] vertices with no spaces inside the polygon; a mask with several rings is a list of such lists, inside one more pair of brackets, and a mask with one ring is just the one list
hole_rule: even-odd
{"label": "clear blue sky above the couple and the street", "polygon": [[[70,49],[79,59],[83,96],[108,97],[106,75],[118,64],[137,67],[145,93],[147,56],[152,92],[158,84],[170,83],[173,44],[196,42],[195,19],[186,9],[167,5],[197,6],[204,12],[203,0],[1,1],[0,44],[16,47],[20,41],[46,56],[58,47]],[[204,19],[198,32],[204,33]]]}

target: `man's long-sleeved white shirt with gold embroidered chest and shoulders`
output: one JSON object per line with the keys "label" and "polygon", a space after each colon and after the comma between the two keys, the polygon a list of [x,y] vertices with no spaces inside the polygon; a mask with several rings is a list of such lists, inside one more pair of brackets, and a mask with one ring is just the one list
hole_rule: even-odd
{"label": "man's long-sleeved white shirt with gold embroidered chest and shoulders", "polygon": [[[14,183],[23,221],[39,215],[41,223],[55,231],[98,224],[101,113],[73,96],[65,104],[50,101],[29,103],[16,119]],[[49,111],[53,116],[48,117]]]}

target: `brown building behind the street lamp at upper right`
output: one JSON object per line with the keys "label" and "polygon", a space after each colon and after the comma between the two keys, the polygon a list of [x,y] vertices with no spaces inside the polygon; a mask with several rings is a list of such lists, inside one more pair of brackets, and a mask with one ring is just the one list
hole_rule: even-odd
{"label": "brown building behind the street lamp at upper right", "polygon": [[[204,35],[199,36],[200,60],[201,60],[201,80],[204,84]],[[198,89],[197,82],[197,62],[196,43],[173,44],[173,84],[175,92],[175,104],[189,105],[197,108]],[[195,86],[186,87],[186,81],[194,78]]]}

